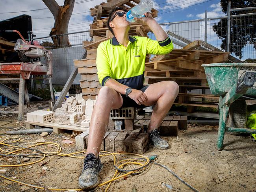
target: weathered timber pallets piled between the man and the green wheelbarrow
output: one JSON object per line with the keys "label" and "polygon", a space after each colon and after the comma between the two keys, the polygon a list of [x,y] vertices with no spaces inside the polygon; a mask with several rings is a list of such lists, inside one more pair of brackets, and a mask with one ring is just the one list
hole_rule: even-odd
{"label": "weathered timber pallets piled between the man and the green wheelbarrow", "polygon": [[[217,108],[219,97],[210,93],[201,65],[242,61],[204,41],[191,42],[173,32],[168,31],[168,34],[175,38],[172,38],[173,43],[183,49],[174,49],[167,55],[156,55],[151,62],[145,63],[145,85],[172,80],[180,87],[174,104],[187,105],[188,112],[192,112],[194,107]],[[208,94],[206,90],[209,90]]]}

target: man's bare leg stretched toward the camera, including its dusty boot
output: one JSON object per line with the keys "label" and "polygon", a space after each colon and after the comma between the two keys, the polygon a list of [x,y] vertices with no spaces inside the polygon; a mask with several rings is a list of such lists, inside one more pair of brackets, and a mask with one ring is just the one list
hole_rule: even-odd
{"label": "man's bare leg stretched toward the camera, including its dusty boot", "polygon": [[78,179],[78,186],[84,190],[95,188],[99,183],[98,174],[102,168],[98,157],[100,145],[108,127],[110,110],[119,109],[122,102],[121,94],[114,89],[107,86],[100,89],[93,108],[83,170]]}

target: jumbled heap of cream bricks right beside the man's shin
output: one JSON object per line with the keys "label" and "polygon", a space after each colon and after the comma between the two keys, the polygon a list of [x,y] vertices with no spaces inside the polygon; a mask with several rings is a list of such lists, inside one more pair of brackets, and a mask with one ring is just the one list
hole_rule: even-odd
{"label": "jumbled heap of cream bricks right beside the man's shin", "polygon": [[81,126],[89,128],[95,103],[96,100],[87,99],[85,101],[81,93],[67,98],[60,109],[70,114],[70,124],[76,124],[82,118]]}

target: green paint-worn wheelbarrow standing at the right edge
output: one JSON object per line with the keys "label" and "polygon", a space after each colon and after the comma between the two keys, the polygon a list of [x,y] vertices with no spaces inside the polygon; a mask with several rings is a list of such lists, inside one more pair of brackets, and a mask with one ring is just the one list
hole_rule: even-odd
{"label": "green paint-worn wheelbarrow standing at the right edge", "polygon": [[[246,100],[256,98],[256,63],[212,63],[202,65],[211,93],[219,98],[217,150],[223,149],[225,132],[256,133],[247,129]],[[256,109],[256,105],[248,107]]]}

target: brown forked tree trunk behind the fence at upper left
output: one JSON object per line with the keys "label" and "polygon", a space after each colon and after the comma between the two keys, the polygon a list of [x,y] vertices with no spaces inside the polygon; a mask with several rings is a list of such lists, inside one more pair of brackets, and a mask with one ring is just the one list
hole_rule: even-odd
{"label": "brown forked tree trunk behind the fence at upper left", "polygon": [[[61,35],[68,33],[69,20],[74,9],[75,0],[65,0],[63,6],[59,6],[55,0],[43,0],[54,16],[54,27],[50,35]],[[70,46],[68,35],[52,37],[55,46]]]}

